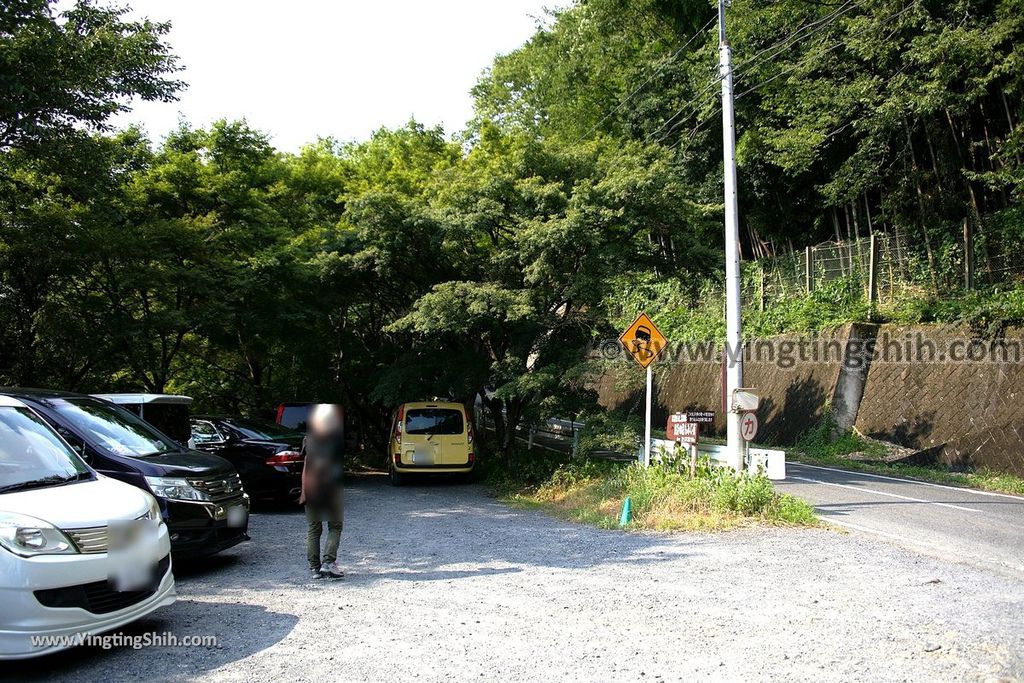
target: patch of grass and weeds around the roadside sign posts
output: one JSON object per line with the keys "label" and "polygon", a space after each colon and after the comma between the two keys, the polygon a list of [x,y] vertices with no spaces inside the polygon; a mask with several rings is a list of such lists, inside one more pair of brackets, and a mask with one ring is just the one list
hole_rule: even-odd
{"label": "patch of grass and weeds around the roadside sign posts", "polygon": [[818,523],[804,501],[779,494],[764,476],[736,477],[702,463],[685,468],[566,462],[552,454],[516,454],[487,466],[485,480],[508,503],[602,528],[618,526],[627,497],[631,529],[721,530],[740,526],[811,526]]}

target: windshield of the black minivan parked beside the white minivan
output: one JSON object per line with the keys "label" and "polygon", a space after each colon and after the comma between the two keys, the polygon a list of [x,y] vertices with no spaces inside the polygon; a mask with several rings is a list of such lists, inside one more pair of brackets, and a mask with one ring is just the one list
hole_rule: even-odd
{"label": "windshield of the black minivan parked beside the white minivan", "polygon": [[144,458],[181,450],[140,418],[98,398],[60,398],[49,402],[77,431],[91,436],[115,455]]}

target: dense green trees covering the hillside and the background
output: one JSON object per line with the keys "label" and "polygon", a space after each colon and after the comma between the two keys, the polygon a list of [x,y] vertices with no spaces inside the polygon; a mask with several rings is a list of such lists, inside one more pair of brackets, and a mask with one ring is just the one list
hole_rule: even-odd
{"label": "dense green trees covering the hillside and the background", "polygon": [[[0,384],[341,401],[371,437],[399,400],[488,387],[507,452],[523,420],[594,409],[582,349],[637,309],[718,334],[710,3],[580,2],[486,69],[465,130],[298,154],[241,119],[110,130],[180,87],[167,27],[55,12],[0,7]],[[964,220],[1019,244],[1024,2],[735,0],[729,22],[745,258],[899,229],[939,292]],[[978,297],[1019,315],[1019,290]],[[791,306],[751,334],[863,304]]]}

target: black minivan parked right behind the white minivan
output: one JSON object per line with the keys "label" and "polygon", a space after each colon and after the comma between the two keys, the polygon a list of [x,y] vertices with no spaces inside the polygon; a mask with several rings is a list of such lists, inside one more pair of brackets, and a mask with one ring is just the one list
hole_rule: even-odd
{"label": "black minivan parked right behind the white minivan", "polygon": [[0,389],[39,413],[97,472],[160,502],[176,559],[248,541],[249,496],[229,462],[189,451],[101,398],[47,389]]}

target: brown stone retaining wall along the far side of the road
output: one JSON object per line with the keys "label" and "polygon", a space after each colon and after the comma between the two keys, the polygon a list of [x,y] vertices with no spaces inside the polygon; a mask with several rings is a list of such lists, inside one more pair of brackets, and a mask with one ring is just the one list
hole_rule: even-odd
{"label": "brown stone retaining wall along the far side of the road", "polygon": [[[835,356],[800,359],[797,336],[751,344],[743,383],[761,396],[758,440],[792,445],[833,407],[844,429],[856,429],[921,452],[922,458],[956,467],[984,466],[1024,474],[1024,333],[1013,330],[996,344],[977,344],[965,361],[927,357],[929,349],[947,353],[966,346],[971,335],[958,328],[930,326],[846,326],[818,338],[820,350]],[[906,343],[918,359],[899,357],[893,344]],[[888,353],[870,344],[889,344]],[[1000,346],[1001,345],[1001,346]],[[1015,351],[1016,349],[1016,351]],[[840,357],[842,356],[842,357]],[[905,354],[904,354],[905,356]],[[792,367],[788,361],[793,360]],[[662,362],[655,372],[653,422],[665,424],[669,413],[716,411],[714,432],[724,433],[722,377],[719,362]],[[599,400],[607,409],[643,415],[643,371],[624,362],[597,382]]]}

